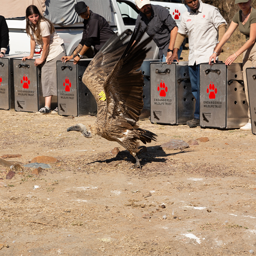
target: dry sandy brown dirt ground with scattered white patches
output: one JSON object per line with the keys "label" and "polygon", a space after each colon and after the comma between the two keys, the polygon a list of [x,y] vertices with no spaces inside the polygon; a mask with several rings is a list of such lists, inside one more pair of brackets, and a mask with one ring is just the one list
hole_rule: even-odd
{"label": "dry sandy brown dirt ground with scattered white patches", "polygon": [[[28,164],[53,156],[39,175],[0,165],[1,256],[238,256],[256,252],[256,135],[140,121],[158,141],[139,156],[67,127],[95,117],[0,110],[0,157]],[[209,141],[161,150],[170,139]],[[119,147],[117,156],[109,152]],[[5,184],[5,186],[3,185]],[[164,205],[164,206],[162,206]],[[165,207],[165,208],[162,208]],[[254,251],[254,252],[253,252]]]}

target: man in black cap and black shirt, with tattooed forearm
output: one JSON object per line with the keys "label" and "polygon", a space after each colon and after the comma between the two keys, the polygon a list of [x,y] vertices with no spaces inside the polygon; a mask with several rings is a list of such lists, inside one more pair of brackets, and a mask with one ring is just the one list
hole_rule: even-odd
{"label": "man in black cap and black shirt, with tattooed forearm", "polygon": [[83,37],[71,56],[64,56],[61,59],[65,62],[74,58],[74,64],[83,58],[83,54],[85,54],[91,46],[94,47],[94,54],[96,54],[104,43],[115,34],[106,19],[90,11],[89,6],[84,2],[76,3],[75,10],[76,13],[84,19]]}

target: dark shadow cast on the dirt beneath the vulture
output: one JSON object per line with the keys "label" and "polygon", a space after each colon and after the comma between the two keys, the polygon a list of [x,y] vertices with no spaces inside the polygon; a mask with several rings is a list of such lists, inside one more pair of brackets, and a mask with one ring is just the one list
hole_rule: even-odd
{"label": "dark shadow cast on the dirt beneath the vulture", "polygon": [[[147,150],[145,150],[147,148]],[[166,153],[159,145],[154,147],[141,147],[141,151],[138,153],[138,158],[141,159],[141,165],[145,165],[147,163],[166,163],[168,156],[174,156],[177,154],[184,154],[187,152],[193,152],[195,150],[180,150],[178,152],[172,151],[171,153]],[[130,163],[135,163],[135,158],[127,151],[123,150],[118,152],[118,154],[115,157],[108,158],[109,153],[104,153],[104,156],[102,155],[102,160],[98,160],[101,158],[100,156],[97,156],[97,160],[91,161],[90,163],[87,163],[87,165],[91,163],[111,163],[115,161],[127,161]],[[108,158],[103,160],[104,158]]]}

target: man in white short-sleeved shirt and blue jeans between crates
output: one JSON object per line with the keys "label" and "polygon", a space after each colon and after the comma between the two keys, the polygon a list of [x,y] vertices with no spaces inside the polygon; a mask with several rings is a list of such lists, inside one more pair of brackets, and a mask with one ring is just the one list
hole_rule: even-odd
{"label": "man in white short-sleeved shirt and blue jeans between crates", "polygon": [[[218,41],[226,32],[226,21],[219,9],[201,0],[185,0],[188,10],[182,13],[171,61],[178,61],[178,49],[186,35],[189,37],[189,76],[192,93],[196,100],[194,119],[187,121],[189,127],[199,125],[200,112],[200,63],[209,62]],[[219,52],[220,53],[220,52]]]}

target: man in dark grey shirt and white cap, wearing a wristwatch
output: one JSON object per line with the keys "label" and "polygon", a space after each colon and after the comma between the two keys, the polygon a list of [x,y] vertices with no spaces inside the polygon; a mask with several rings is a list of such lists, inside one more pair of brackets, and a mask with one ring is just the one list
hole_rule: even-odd
{"label": "man in dark grey shirt and white cap, wearing a wristwatch", "polygon": [[178,32],[178,26],[167,9],[158,5],[151,5],[150,0],[135,0],[140,13],[136,20],[135,31],[140,27],[135,41],[140,33],[146,33],[152,37],[159,48],[161,61],[171,64],[174,43]]}

